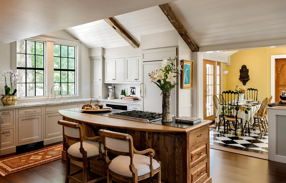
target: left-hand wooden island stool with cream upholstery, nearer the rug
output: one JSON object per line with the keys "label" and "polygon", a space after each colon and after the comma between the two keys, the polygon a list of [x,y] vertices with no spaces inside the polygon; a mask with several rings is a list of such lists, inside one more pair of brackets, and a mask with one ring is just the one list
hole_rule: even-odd
{"label": "left-hand wooden island stool with cream upholstery, nearer the rug", "polygon": [[[96,178],[94,180],[88,181],[88,171],[92,171],[90,169],[90,161],[99,160],[103,158],[103,147],[101,143],[103,138],[101,136],[96,137],[86,137],[83,135],[82,126],[78,123],[67,122],[60,120],[57,122],[59,125],[63,126],[63,145],[66,148],[66,180],[65,182],[69,182],[69,180],[73,180],[75,182],[81,183],[91,183],[98,182],[100,180],[106,179],[107,176],[103,176],[100,178]],[[73,141],[79,141],[73,145],[68,145],[66,139],[70,139]],[[85,141],[83,139],[86,139]],[[98,142],[94,142],[92,140],[97,140]],[[82,162],[83,168],[79,171],[75,171],[70,173],[70,160],[75,160]],[[80,172],[82,173],[82,181],[73,177]],[[96,173],[96,172],[94,172]]]}

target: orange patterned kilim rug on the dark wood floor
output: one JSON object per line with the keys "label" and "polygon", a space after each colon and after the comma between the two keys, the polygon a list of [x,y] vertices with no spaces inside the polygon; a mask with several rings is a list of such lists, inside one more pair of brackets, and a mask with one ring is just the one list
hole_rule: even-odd
{"label": "orange patterned kilim rug on the dark wood floor", "polygon": [[55,145],[40,150],[0,159],[0,174],[5,176],[62,158],[63,145]]}

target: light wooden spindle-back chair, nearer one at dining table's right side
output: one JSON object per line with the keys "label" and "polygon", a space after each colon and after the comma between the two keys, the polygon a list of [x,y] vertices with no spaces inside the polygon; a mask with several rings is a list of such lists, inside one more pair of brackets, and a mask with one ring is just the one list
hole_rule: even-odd
{"label": "light wooden spindle-back chair, nearer one at dining table's right side", "polygon": [[[261,103],[261,106],[259,107],[257,113],[253,117],[254,118],[254,123],[252,124],[252,126],[253,126],[252,129],[258,130],[256,127],[259,127],[261,135],[262,135],[261,126],[262,126],[264,132],[267,132],[265,121],[264,121],[264,113],[265,113],[265,109],[267,107],[267,102],[268,102],[267,97],[265,97],[263,99],[263,101]],[[256,124],[256,119],[257,119],[257,124]]]}

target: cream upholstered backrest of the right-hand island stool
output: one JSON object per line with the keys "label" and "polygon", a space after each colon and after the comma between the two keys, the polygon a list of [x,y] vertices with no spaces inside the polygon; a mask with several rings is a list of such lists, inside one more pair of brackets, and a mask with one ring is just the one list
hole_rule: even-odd
{"label": "cream upholstered backrest of the right-hand island stool", "polygon": [[113,154],[133,157],[133,139],[125,133],[99,130],[98,135],[104,139],[104,150]]}

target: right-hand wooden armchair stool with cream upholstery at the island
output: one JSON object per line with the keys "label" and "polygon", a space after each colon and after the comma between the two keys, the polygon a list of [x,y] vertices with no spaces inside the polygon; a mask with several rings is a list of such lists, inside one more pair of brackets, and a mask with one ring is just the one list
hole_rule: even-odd
{"label": "right-hand wooden armchair stool with cream upholstery at the island", "polygon": [[[138,182],[146,178],[151,178],[157,174],[157,182],[161,182],[161,162],[153,159],[155,151],[146,149],[137,151],[133,147],[131,135],[112,132],[109,130],[99,130],[98,134],[103,136],[104,159],[107,166],[107,182],[112,182],[112,177],[125,182]],[[112,161],[107,156],[107,151],[117,154]],[[144,156],[143,154],[148,154]]]}

